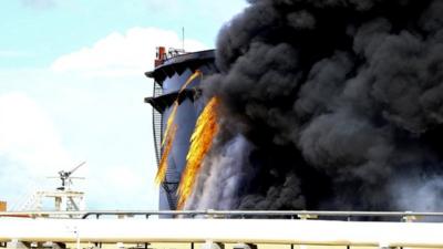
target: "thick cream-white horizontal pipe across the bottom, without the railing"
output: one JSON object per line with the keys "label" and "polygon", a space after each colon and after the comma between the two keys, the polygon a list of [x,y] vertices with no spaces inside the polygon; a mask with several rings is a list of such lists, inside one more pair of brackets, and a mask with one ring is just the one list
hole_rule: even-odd
{"label": "thick cream-white horizontal pipe across the bottom, without the railing", "polygon": [[1,218],[0,241],[251,242],[370,247],[443,247],[441,222],[301,219]]}

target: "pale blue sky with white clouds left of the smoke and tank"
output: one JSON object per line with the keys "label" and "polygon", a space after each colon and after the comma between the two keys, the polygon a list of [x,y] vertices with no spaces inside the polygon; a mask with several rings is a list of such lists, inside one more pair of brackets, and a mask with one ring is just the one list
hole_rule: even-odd
{"label": "pale blue sky with white clouds left of the smoke and tank", "polygon": [[0,199],[75,164],[90,209],[156,209],[155,46],[214,48],[243,0],[10,0],[0,8]]}

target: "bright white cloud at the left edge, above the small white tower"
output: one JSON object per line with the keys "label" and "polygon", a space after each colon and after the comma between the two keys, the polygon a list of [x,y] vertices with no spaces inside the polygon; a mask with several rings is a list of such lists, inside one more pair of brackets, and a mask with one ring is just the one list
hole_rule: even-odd
{"label": "bright white cloud at the left edge, above the small white tower", "polygon": [[34,173],[69,165],[51,118],[24,94],[0,95],[0,155]]}

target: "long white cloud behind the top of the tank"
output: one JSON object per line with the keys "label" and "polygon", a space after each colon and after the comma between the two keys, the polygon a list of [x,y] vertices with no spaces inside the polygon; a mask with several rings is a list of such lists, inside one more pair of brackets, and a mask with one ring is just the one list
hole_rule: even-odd
{"label": "long white cloud behind the top of the tank", "polygon": [[[56,59],[55,72],[76,72],[86,75],[136,75],[153,68],[155,48],[181,48],[181,38],[173,31],[156,28],[132,28],[124,34],[113,32],[94,45]],[[187,51],[207,49],[196,40],[185,40]]]}

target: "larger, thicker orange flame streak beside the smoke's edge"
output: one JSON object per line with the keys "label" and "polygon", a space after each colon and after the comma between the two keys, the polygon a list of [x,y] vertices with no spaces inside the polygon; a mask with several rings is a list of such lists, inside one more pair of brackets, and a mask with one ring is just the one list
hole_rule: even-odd
{"label": "larger, thicker orange flame streak beside the smoke's edge", "polygon": [[213,97],[199,115],[195,125],[194,134],[190,137],[190,146],[186,156],[186,168],[182,174],[178,186],[178,205],[182,209],[186,199],[189,197],[202,162],[213,145],[215,135],[218,132],[217,106],[218,98]]}

